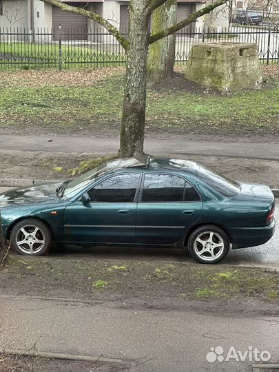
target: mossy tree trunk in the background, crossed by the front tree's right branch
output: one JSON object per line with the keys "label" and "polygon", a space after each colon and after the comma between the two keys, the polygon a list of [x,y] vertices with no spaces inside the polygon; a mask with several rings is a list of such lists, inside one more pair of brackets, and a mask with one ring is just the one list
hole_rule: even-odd
{"label": "mossy tree trunk in the background, crossed by the front tree's right branch", "polygon": [[[167,0],[152,13],[152,34],[176,24],[176,0]],[[174,74],[176,37],[169,35],[149,47],[147,60],[147,82],[149,85],[162,83]]]}

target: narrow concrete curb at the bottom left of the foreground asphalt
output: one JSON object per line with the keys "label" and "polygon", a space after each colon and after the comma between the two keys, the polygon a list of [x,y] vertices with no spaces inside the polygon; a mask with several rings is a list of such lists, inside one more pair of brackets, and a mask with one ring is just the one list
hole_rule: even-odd
{"label": "narrow concrete curb at the bottom left of the foreground asphalt", "polygon": [[63,354],[63,353],[45,353],[43,351],[24,351],[24,350],[8,350],[0,349],[0,353],[10,355],[22,356],[39,356],[40,358],[64,359],[64,360],[81,360],[83,362],[109,362],[109,363],[123,363],[123,359],[118,358],[105,358],[103,356],[92,357],[89,355],[76,355],[76,354]]}

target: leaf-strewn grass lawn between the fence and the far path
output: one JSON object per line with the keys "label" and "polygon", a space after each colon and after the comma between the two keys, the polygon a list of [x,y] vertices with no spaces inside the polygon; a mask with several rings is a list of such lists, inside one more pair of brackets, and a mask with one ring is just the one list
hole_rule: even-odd
{"label": "leaf-strewn grass lawn between the fence and the far path", "polygon": [[[192,133],[278,132],[278,81],[222,95],[183,83],[147,91],[147,128]],[[184,84],[184,85],[183,85]],[[118,130],[124,69],[0,72],[0,129]]]}

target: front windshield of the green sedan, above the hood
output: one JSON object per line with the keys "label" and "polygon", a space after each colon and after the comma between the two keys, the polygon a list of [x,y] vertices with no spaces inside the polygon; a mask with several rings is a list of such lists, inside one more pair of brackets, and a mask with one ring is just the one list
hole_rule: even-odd
{"label": "front windshield of the green sedan, above the hood", "polygon": [[63,192],[63,198],[70,199],[75,196],[81,189],[86,187],[92,180],[102,176],[107,172],[107,164],[103,163],[92,169],[90,172],[82,174],[81,176],[71,180],[68,185],[65,187]]}

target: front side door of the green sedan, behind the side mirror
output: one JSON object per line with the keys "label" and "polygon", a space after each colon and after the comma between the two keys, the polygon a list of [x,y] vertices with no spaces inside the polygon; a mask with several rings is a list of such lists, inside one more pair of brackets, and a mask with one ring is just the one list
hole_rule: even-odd
{"label": "front side door of the green sedan, behind the side mirror", "polygon": [[88,203],[74,201],[64,214],[68,242],[135,242],[136,192],[141,174],[117,174],[87,190]]}

